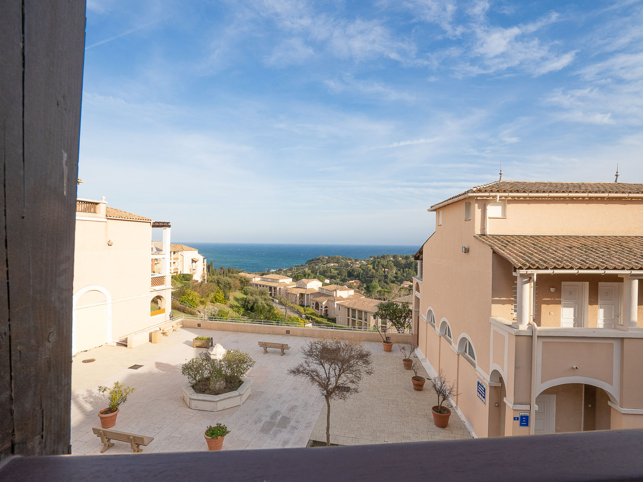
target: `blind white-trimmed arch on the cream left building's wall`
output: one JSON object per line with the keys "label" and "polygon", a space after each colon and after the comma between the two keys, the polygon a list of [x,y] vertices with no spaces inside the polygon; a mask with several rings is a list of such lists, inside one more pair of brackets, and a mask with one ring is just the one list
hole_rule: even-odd
{"label": "blind white-trimmed arch on the cream left building's wall", "polygon": [[102,286],[86,286],[72,297],[71,352],[96,348],[112,338],[112,297]]}

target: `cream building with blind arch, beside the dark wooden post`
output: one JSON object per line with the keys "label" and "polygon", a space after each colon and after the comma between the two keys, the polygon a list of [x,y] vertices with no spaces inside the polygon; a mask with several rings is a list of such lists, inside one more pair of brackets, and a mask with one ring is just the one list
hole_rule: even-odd
{"label": "cream building with blind arch, beside the dark wooden post", "polygon": [[[162,242],[152,241],[153,227],[163,229]],[[171,323],[169,248],[169,223],[110,208],[105,197],[77,199],[73,353],[106,343],[134,348]]]}

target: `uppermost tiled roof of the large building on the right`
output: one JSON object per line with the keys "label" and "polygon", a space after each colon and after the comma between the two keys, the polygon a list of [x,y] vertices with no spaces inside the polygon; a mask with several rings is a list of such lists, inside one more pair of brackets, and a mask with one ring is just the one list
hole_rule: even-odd
{"label": "uppermost tiled roof of the large building on the right", "polygon": [[[463,194],[489,193],[552,193],[552,194],[643,194],[643,184],[635,183],[557,183],[556,181],[495,181],[482,186],[475,186],[468,191],[451,196],[449,199],[433,204],[456,199]],[[433,208],[431,206],[431,208]]]}

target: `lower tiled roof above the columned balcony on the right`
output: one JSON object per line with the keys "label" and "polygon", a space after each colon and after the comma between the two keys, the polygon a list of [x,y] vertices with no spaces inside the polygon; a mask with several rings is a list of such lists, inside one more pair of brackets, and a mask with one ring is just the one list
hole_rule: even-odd
{"label": "lower tiled roof above the columned balcony on the right", "polygon": [[643,236],[476,238],[520,269],[643,269]]}

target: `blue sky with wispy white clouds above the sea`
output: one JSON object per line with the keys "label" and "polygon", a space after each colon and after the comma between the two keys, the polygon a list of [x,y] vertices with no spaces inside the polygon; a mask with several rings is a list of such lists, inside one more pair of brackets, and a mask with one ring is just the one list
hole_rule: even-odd
{"label": "blue sky with wispy white clouds above the sea", "polygon": [[183,242],[421,244],[498,179],[643,182],[643,1],[87,1],[80,197]]}

